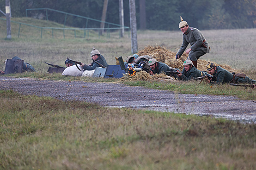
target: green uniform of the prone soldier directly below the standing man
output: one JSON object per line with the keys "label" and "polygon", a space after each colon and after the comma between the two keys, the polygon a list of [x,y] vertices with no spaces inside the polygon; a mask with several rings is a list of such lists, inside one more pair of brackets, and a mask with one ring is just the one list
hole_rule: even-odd
{"label": "green uniform of the prone soldier directly below the standing man", "polygon": [[178,80],[183,80],[183,81],[188,81],[188,80],[194,80],[194,78],[196,77],[202,77],[203,75],[205,75],[204,72],[198,70],[196,67],[194,67],[193,65],[191,65],[192,67],[190,68],[190,70],[186,71],[185,68],[183,68],[182,72],[181,72],[181,76],[178,77]]}

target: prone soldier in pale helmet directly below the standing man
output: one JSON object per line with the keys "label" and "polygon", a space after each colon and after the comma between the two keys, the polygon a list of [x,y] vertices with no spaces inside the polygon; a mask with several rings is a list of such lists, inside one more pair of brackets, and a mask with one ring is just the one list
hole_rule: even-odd
{"label": "prone soldier in pale helmet directly below the standing man", "polygon": [[194,67],[193,62],[191,60],[185,60],[184,68],[180,74],[178,74],[178,80],[188,81],[188,80],[194,80],[194,78],[202,77],[205,75],[204,72],[198,70],[196,67]]}

